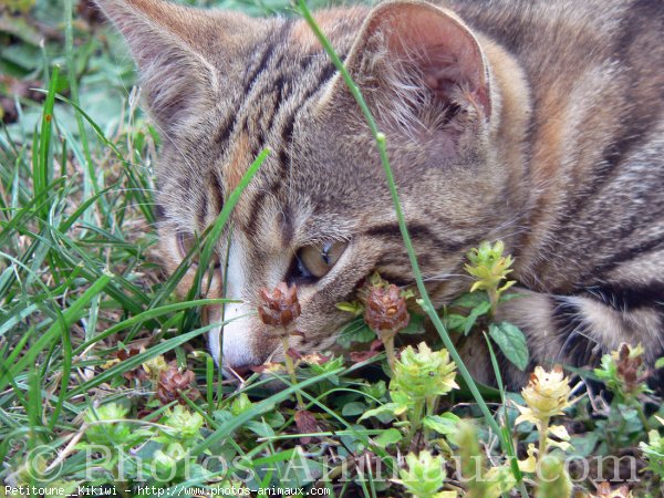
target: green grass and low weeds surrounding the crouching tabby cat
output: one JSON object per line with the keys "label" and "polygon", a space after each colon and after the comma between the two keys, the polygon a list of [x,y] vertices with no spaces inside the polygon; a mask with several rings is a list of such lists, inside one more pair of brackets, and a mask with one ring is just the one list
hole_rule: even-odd
{"label": "green grass and low weeds surrounding the crouching tabby cat", "polygon": [[[85,485],[96,486],[97,494],[115,485],[127,497],[188,496],[193,487],[207,487],[209,494],[210,486],[264,494],[274,486],[313,486],[340,497],[405,496],[408,489],[426,497],[393,480],[406,479],[400,475],[407,469],[402,453],[424,459],[423,449],[428,448],[448,460],[444,468],[436,460],[437,471],[446,469],[450,476],[448,491],[525,497],[543,489],[517,461],[526,457],[529,443],[546,445],[546,433],[515,423],[515,404],[525,402],[502,385],[492,393],[499,403],[489,403],[488,391],[475,383],[458,357],[422,281],[385,136],[305,4],[299,4],[301,14],[342,71],[376,139],[423,314],[435,324],[469,390],[458,398],[436,397],[438,418],[419,415],[429,425],[416,435],[391,413],[398,409],[393,405],[398,405],[400,393],[385,383],[383,355],[356,363],[300,362],[298,383],[284,372],[276,374],[286,385],[278,392],[269,388],[273,381],[258,375],[240,387],[222,381],[201,338],[214,325],[201,325],[199,315],[203,307],[226,300],[201,294],[201,270],[187,300],[177,300],[174,290],[195,256],[198,268],[207,268],[215,241],[269,151],[227,199],[201,238],[199,253],[193,251],[173,274],[164,274],[153,214],[152,164],[159,136],[127,90],[133,84],[132,63],[117,39],[94,19],[76,15],[72,0],[62,6],[60,10],[46,0],[18,2],[12,20],[20,32],[0,14],[0,37],[8,42],[0,53],[7,122],[0,129],[0,477],[6,485],[66,492]],[[263,14],[288,4],[279,0],[221,7]],[[40,37],[45,43],[40,44]],[[15,90],[17,82],[30,82],[41,92]],[[122,105],[112,104],[116,102]],[[12,120],[7,118],[10,111],[15,113]],[[373,338],[361,319],[347,331],[354,339]],[[176,366],[168,370],[166,361]],[[499,378],[496,362],[494,366]],[[615,376],[611,365],[605,371]],[[168,395],[160,377],[165,372],[181,376],[172,380],[179,386],[174,392],[184,393],[179,407],[177,401],[163,397]],[[193,372],[194,383],[187,381],[187,372]],[[295,393],[304,411],[295,408]],[[644,443],[646,426],[657,422],[646,418],[642,394],[616,396],[593,417],[594,400],[579,401],[568,409],[566,425],[585,428],[572,434],[575,453],[559,455],[614,455]],[[372,411],[374,417],[362,417]],[[475,426],[466,427],[459,417],[474,419]],[[465,448],[454,433],[474,444]],[[657,444],[655,433],[647,449],[657,454]],[[481,447],[481,453],[467,453],[471,446]],[[449,465],[456,456],[484,461],[499,479],[461,483]],[[654,460],[637,456],[641,467],[650,465],[636,486],[639,496],[657,496],[661,474]],[[421,465],[426,469],[433,464]],[[146,488],[155,483],[158,486]],[[591,489],[589,479],[579,480],[579,489],[583,487]]]}

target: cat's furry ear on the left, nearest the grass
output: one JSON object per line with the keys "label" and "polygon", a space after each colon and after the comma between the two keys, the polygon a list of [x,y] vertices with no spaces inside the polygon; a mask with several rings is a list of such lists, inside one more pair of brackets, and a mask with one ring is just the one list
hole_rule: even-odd
{"label": "cat's furry ear on the left, nearest the grass", "polygon": [[138,66],[143,96],[166,133],[185,133],[190,120],[220,100],[224,54],[251,32],[242,14],[210,13],[162,0],[95,0],[124,35]]}

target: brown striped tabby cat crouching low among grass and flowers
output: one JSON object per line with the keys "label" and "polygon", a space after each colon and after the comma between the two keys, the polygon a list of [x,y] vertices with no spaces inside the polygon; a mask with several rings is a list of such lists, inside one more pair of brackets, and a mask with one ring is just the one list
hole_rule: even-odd
{"label": "brown striped tabby cat crouching low among grass and flowers", "polygon": [[[263,288],[298,286],[293,346],[324,351],[350,319],[335,303],[367,276],[413,283],[370,128],[303,20],[96,1],[126,38],[164,135],[169,270],[271,151],[218,242],[228,267],[209,292],[226,279],[226,295],[243,301],[209,334],[227,372],[283,355],[256,314]],[[525,332],[531,360],[520,372],[500,357],[509,387],[536,364],[595,364],[621,342],[642,343],[651,365],[664,355],[661,0],[388,1],[317,20],[387,137],[434,303],[468,290],[465,255],[481,240],[516,258],[521,297],[496,319]],[[494,384],[484,338],[459,351]]]}

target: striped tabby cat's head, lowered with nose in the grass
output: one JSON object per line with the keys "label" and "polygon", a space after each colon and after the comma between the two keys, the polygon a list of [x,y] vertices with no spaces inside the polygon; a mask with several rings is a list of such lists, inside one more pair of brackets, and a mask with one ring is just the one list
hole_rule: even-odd
{"label": "striped tabby cat's head, lowered with nose in the grass", "polygon": [[[270,155],[220,237],[212,292],[242,304],[224,363],[282,354],[256,314],[259,292],[294,282],[300,350],[324,350],[349,300],[377,270],[413,282],[374,138],[330,58],[300,19],[250,19],[159,0],[97,0],[136,59],[163,134],[160,240],[170,269],[217,217],[264,148]],[[387,137],[419,262],[437,300],[468,282],[464,255],[513,215],[497,144],[501,100],[477,38],[452,12],[390,2],[317,17]],[[225,272],[226,262],[228,270]],[[183,286],[190,283],[185,279]],[[221,309],[208,309],[210,321]],[[219,330],[210,334],[219,356]]]}

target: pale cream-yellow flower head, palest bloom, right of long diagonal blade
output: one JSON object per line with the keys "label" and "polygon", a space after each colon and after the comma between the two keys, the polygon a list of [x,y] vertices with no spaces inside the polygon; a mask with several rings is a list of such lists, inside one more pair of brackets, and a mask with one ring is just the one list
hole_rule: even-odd
{"label": "pale cream-yellow flower head, palest bloom, right of long diagonal blade", "polygon": [[571,391],[560,365],[556,365],[551,372],[537,366],[530,382],[521,391],[528,407],[517,405],[521,415],[516,423],[532,422],[538,426],[541,422],[548,423],[549,418],[561,415],[562,411],[570,406]]}

